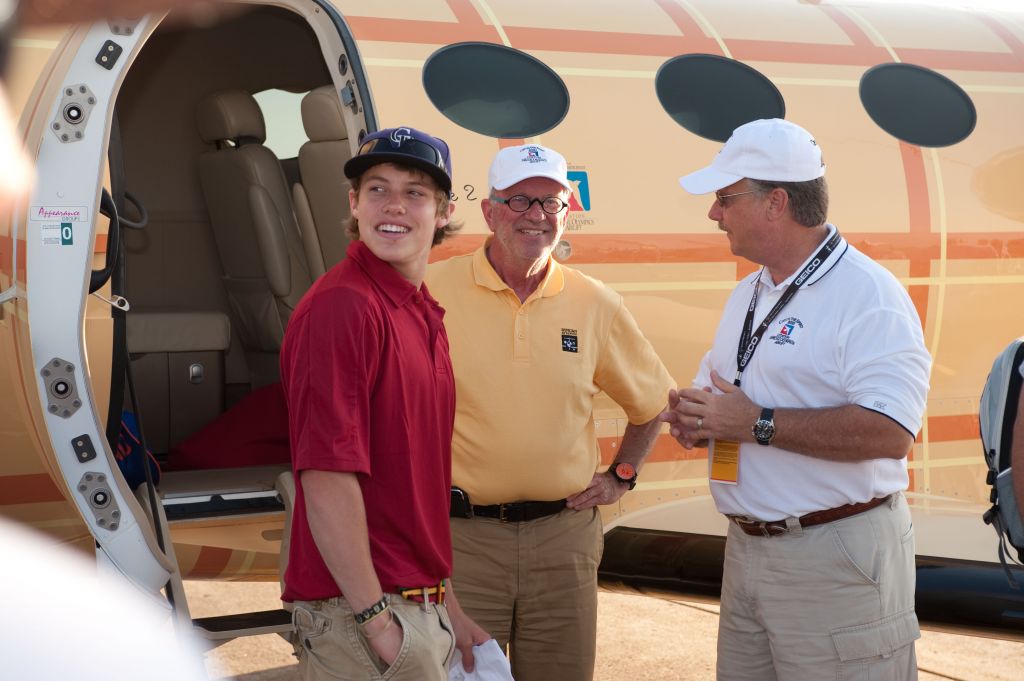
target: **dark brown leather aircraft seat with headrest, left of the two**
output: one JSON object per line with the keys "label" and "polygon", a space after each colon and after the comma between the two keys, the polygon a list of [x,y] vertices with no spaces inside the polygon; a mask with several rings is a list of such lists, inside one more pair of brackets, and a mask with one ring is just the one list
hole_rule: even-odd
{"label": "dark brown leather aircraft seat with headrest, left of the two", "polygon": [[[197,108],[197,124],[210,145],[199,159],[200,181],[223,266],[232,331],[251,373],[272,374],[288,318],[312,283],[285,173],[263,145],[263,114],[250,93],[206,96]],[[254,356],[259,354],[264,356]],[[273,379],[254,377],[253,383]]]}

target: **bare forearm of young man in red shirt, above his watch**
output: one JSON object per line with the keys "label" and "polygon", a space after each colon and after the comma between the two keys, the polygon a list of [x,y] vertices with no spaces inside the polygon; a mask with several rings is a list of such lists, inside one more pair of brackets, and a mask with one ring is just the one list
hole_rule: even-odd
{"label": "bare forearm of young man in red shirt, above his watch", "polygon": [[301,473],[306,516],[316,548],[345,599],[359,612],[380,599],[380,580],[370,557],[362,492],[353,473]]}

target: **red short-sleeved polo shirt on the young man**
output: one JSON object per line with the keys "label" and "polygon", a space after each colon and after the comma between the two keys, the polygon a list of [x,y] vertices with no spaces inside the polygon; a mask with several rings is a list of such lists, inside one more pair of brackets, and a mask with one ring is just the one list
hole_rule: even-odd
{"label": "red short-sleeved polo shirt on the young man", "polygon": [[309,531],[299,473],[356,473],[384,591],[452,573],[455,382],[444,310],[361,242],[292,314],[281,349],[295,513],[284,600],[341,595]]}

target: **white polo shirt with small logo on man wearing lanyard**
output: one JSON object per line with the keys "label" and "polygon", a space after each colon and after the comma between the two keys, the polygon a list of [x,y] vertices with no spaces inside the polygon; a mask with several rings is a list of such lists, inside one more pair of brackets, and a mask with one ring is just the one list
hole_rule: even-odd
{"label": "white polo shirt with small logo on man wearing lanyard", "polygon": [[[828,225],[829,237],[835,229]],[[755,283],[760,279],[756,330],[812,257],[777,285],[763,268],[736,286],[694,386],[710,386],[713,369],[726,380],[735,378],[736,346]],[[915,435],[931,365],[906,290],[844,239],[765,331],[741,389],[756,403],[775,409],[860,405]],[[908,481],[905,458],[838,462],[744,442],[738,483],[713,481],[711,490],[722,513],[779,520],[885,497]]]}

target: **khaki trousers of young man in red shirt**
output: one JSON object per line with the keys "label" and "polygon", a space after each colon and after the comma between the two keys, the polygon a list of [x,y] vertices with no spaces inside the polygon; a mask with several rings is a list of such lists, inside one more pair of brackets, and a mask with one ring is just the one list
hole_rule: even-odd
{"label": "khaki trousers of young man in red shirt", "polygon": [[398,657],[389,668],[370,647],[344,598],[296,601],[292,611],[295,654],[303,681],[447,681],[455,636],[443,605],[388,594],[401,625]]}

